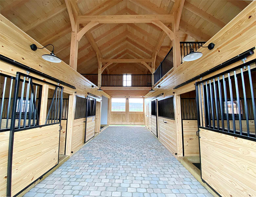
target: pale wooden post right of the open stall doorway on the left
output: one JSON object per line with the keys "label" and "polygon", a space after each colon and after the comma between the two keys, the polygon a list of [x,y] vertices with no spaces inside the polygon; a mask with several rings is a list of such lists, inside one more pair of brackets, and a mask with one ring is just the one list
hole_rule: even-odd
{"label": "pale wooden post right of the open stall doorway on the left", "polygon": [[68,107],[68,122],[67,122],[67,137],[66,137],[66,155],[71,155],[72,148],[72,134],[73,134],[73,123],[75,118],[75,93],[69,95],[69,107]]}

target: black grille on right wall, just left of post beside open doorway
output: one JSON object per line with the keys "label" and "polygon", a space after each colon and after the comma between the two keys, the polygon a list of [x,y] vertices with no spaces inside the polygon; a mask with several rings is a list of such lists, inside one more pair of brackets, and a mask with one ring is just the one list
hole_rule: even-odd
{"label": "black grille on right wall, just left of post beside open doorway", "polygon": [[158,116],[175,120],[173,96],[158,100]]}

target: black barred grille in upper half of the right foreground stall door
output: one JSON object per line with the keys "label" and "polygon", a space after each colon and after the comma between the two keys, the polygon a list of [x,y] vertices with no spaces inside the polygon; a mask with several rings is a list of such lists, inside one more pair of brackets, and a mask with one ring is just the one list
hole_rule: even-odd
{"label": "black barred grille in upper half of the right foreground stall door", "polygon": [[255,81],[254,61],[197,82],[199,127],[255,141]]}

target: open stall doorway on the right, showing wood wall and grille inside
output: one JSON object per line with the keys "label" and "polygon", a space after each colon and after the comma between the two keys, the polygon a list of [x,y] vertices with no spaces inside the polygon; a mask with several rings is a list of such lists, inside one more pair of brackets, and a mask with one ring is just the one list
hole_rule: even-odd
{"label": "open stall doorway on the right, showing wood wall and grille inside", "polygon": [[191,156],[199,161],[199,141],[197,136],[196,91],[181,94],[181,121],[183,136],[183,156]]}

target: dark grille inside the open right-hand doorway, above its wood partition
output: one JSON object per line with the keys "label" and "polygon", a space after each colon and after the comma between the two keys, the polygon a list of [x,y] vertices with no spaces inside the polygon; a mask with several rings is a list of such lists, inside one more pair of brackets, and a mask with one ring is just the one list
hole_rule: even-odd
{"label": "dark grille inside the open right-hand doorway, above its wood partition", "polygon": [[181,98],[181,119],[197,120],[196,98]]}

